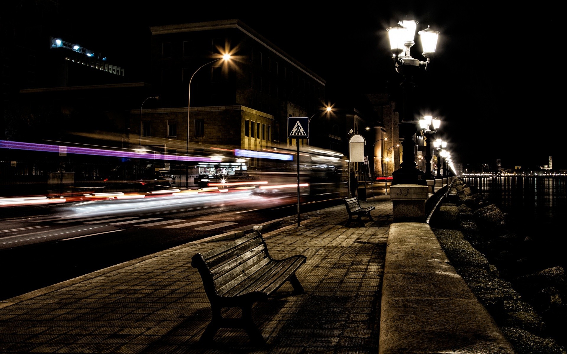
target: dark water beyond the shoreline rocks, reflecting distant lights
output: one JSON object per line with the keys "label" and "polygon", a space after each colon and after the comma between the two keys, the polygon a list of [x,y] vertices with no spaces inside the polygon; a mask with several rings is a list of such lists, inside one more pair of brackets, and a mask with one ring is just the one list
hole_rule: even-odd
{"label": "dark water beyond the shoreline rocks, reflecting distant lights", "polygon": [[508,213],[510,231],[534,241],[534,268],[567,269],[567,176],[464,177],[463,181]]}

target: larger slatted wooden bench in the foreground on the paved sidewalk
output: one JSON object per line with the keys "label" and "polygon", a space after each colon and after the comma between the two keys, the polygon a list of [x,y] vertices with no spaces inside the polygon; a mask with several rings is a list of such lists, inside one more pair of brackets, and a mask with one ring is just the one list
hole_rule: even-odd
{"label": "larger slatted wooden bench in the foreground on the paved sidewalk", "polygon": [[[220,328],[242,328],[253,343],[265,345],[252,321],[252,305],[268,300],[286,281],[293,285],[294,295],[304,293],[295,271],[306,259],[304,255],[273,259],[259,231],[194,255],[191,265],[201,274],[213,312],[199,342],[210,342]],[[221,309],[231,307],[242,309],[242,317],[223,317]]]}

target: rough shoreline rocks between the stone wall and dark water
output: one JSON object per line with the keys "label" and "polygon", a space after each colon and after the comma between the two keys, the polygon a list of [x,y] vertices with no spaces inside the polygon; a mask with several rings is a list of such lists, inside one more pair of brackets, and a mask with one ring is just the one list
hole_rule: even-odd
{"label": "rough shoreline rocks between the stone wall and dark water", "polygon": [[506,213],[460,178],[451,192],[429,223],[451,265],[518,354],[567,354],[564,268],[534,271],[533,241],[507,228]]}

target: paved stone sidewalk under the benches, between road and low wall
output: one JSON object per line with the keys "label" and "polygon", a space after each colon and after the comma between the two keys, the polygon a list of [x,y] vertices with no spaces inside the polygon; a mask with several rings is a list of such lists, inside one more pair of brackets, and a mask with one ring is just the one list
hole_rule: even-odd
{"label": "paved stone sidewalk under the benches, between road and low wall", "polygon": [[376,207],[365,228],[344,227],[340,205],[302,215],[300,227],[293,216],[264,233],[272,257],[307,257],[297,271],[306,293],[290,296],[285,284],[253,308],[266,348],[230,329],[197,345],[211,312],[191,257],[223,240],[177,246],[0,303],[0,353],[375,353],[392,203],[380,195],[361,204]]}

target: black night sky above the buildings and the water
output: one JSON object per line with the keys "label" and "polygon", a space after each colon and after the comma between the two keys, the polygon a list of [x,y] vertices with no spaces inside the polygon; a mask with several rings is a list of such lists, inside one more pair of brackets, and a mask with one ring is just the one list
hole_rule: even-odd
{"label": "black night sky above the buildings and the water", "polygon": [[[555,58],[562,41],[556,39],[560,32],[549,10],[501,8],[494,1],[321,2],[309,8],[306,2],[289,1],[230,7],[200,2],[197,8],[187,1],[118,1],[99,8],[79,3],[61,0],[58,15],[50,19],[55,27],[103,47],[93,50],[134,60],[142,60],[133,47],[149,36],[150,25],[239,18],[327,80],[335,95],[386,86],[401,93],[386,28],[408,15],[420,21],[418,30],[429,24],[441,31],[427,73],[431,84],[418,84],[416,93],[427,93],[429,102],[420,108],[441,118],[436,137],[448,141],[456,163],[500,158],[505,168],[530,167],[547,164],[553,156],[555,168],[567,168],[560,149],[566,123],[557,107],[563,101],[558,88],[564,71],[561,58]],[[535,29],[552,34],[540,42],[531,33]],[[417,34],[412,56],[424,60]]]}

